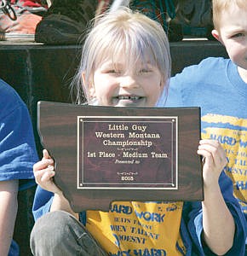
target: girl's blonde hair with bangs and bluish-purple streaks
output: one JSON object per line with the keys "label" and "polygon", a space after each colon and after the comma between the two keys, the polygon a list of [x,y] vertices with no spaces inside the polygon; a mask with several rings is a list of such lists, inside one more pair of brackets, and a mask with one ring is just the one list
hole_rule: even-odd
{"label": "girl's blonde hair with bangs and bluish-purple streaks", "polygon": [[[82,59],[78,74],[72,83],[75,102],[82,103],[83,95],[89,99],[88,84],[92,81],[95,67],[106,58],[126,56],[130,70],[136,61],[151,61],[164,75],[164,83],[170,76],[169,42],[163,27],[146,15],[121,7],[96,17],[95,24],[83,43]],[[83,84],[84,73],[85,84]],[[168,83],[167,83],[168,84]],[[152,89],[151,89],[152,90]],[[84,94],[83,94],[84,92]]]}

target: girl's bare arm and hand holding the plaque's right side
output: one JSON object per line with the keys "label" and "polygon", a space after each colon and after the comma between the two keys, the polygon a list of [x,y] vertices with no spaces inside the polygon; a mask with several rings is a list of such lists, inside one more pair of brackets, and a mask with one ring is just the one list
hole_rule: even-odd
{"label": "girl's bare arm and hand holding the plaque's right side", "polygon": [[227,164],[226,154],[220,143],[202,140],[198,154],[204,156],[203,237],[210,250],[223,255],[233,246],[235,224],[233,215],[221,195],[219,177]]}

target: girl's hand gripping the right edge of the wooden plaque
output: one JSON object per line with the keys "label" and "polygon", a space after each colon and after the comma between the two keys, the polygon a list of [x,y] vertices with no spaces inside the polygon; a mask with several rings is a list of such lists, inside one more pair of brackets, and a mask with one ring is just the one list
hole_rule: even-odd
{"label": "girl's hand gripping the right edge of the wooden plaque", "polygon": [[216,140],[205,139],[199,142],[198,154],[203,158],[204,187],[218,186],[222,169],[227,165],[224,148]]}

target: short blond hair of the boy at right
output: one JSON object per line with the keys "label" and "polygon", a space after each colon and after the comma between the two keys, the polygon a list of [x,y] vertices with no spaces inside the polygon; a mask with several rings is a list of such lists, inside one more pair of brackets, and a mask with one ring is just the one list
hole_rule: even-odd
{"label": "short blond hair of the boy at right", "polygon": [[223,14],[226,10],[231,9],[233,6],[246,9],[246,0],[212,0],[213,22],[215,29],[221,29],[221,14]]}

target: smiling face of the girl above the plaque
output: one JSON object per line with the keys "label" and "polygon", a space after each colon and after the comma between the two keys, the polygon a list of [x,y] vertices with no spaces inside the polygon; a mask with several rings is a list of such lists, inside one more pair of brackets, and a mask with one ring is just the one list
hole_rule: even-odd
{"label": "smiling face of the girl above the plaque", "polygon": [[129,70],[124,55],[106,59],[95,68],[89,95],[101,106],[153,107],[158,101],[164,81],[158,67],[137,61]]}

